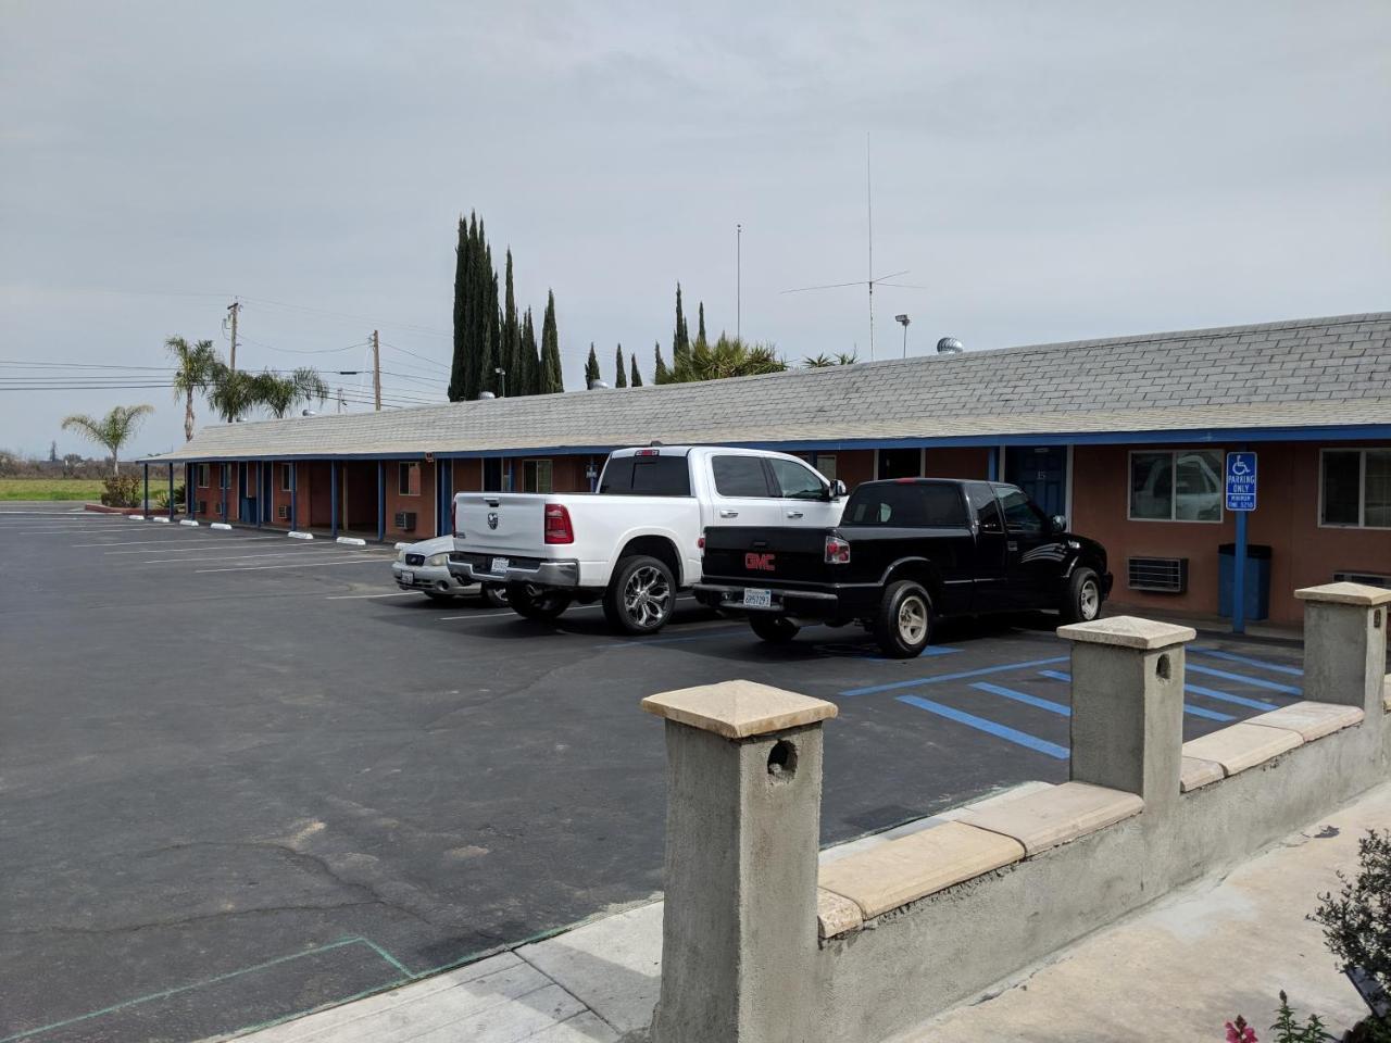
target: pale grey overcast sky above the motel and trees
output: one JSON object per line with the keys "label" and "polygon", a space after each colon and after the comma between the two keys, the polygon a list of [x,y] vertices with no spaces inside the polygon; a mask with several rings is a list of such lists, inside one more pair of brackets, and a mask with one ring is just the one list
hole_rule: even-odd
{"label": "pale grey overcast sky above the motel and trees", "polygon": [[[862,286],[780,292],[865,278],[867,135],[876,274],[926,286],[878,357],[896,313],[922,353],[1391,305],[1387,0],[675,7],[0,0],[0,359],[225,350],[239,295],[239,366],[378,327],[387,395],[442,399],[469,210],[569,388],[591,341],[651,380],[677,281],[733,331],[736,223],[744,335],[867,359]],[[167,388],[7,389],[0,446],[117,402],[182,439]]]}

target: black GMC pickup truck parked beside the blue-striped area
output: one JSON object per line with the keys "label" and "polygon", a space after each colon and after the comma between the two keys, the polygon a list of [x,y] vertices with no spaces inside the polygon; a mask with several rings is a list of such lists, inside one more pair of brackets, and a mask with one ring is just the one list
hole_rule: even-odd
{"label": "black GMC pickup truck parked beside the blue-striped area", "polygon": [[869,481],[833,528],[707,528],[696,597],[747,612],[765,641],[790,641],[808,622],[858,622],[907,659],[942,616],[1057,609],[1070,623],[1096,619],[1111,590],[1106,549],[1066,530],[1014,485]]}

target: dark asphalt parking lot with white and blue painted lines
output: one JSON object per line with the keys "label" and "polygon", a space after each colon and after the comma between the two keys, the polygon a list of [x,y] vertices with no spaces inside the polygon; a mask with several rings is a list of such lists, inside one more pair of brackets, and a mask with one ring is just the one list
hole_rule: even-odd
{"label": "dark asphalt parking lot with white and blue painted lines", "polygon": [[[0,1043],[228,1033],[650,898],[655,691],[837,702],[823,843],[1067,776],[1045,616],[906,662],[693,601],[620,638],[401,594],[389,558],[0,505]],[[1299,663],[1199,640],[1187,737],[1296,700]]]}

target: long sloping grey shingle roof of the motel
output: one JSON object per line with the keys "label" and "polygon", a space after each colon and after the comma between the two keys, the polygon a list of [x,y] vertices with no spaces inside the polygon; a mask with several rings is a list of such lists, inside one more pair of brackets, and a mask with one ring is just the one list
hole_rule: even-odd
{"label": "long sloping grey shingle roof of the motel", "polygon": [[203,427],[150,460],[1391,426],[1391,313]]}

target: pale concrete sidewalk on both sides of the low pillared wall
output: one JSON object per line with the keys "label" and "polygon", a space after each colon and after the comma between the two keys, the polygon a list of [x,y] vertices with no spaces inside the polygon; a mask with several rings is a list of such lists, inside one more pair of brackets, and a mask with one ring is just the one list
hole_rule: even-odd
{"label": "pale concrete sidewalk on both sides of the low pillared wall", "polygon": [[[926,822],[893,830],[921,829]],[[1223,1039],[1242,1014],[1264,1039],[1284,989],[1341,1032],[1366,1015],[1305,919],[1358,837],[1391,826],[1391,784],[1309,823],[1225,878],[1177,891],[903,1036],[900,1043]],[[833,859],[853,847],[822,852]],[[255,1043],[636,1043],[661,975],[654,903],[512,953],[246,1036]],[[851,1042],[846,1042],[851,1043]]]}

